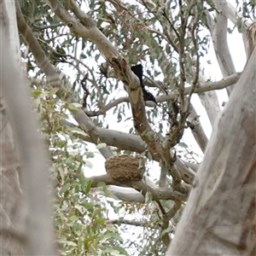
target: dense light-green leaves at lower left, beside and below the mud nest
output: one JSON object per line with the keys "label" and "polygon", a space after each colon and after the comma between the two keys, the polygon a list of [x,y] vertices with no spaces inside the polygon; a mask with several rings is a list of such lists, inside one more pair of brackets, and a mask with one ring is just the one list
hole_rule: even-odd
{"label": "dense light-green leaves at lower left, beside and below the mud nest", "polygon": [[[55,227],[61,255],[141,255],[164,253],[166,247],[160,242],[159,218],[148,205],[116,201],[104,183],[99,188],[90,187],[90,179],[84,177],[84,167],[91,168],[90,159],[94,153],[89,151],[83,140],[74,134],[85,134],[77,128],[63,126],[61,119],[68,117],[68,104],[62,104],[53,90],[32,90],[41,120],[42,131],[49,143],[51,170],[55,181]],[[107,200],[105,196],[108,195]],[[113,199],[111,199],[113,198]],[[113,210],[111,210],[113,208]],[[137,212],[134,214],[134,212]],[[109,216],[141,218],[142,227],[131,229],[126,224],[112,224]],[[113,217],[112,217],[113,218]],[[110,218],[111,219],[111,218]],[[158,231],[157,231],[158,230]],[[130,232],[136,239],[120,236]],[[137,232],[140,232],[137,235]],[[158,239],[158,241],[155,241]],[[150,247],[150,252],[148,252]]]}

